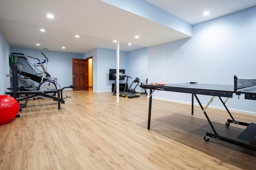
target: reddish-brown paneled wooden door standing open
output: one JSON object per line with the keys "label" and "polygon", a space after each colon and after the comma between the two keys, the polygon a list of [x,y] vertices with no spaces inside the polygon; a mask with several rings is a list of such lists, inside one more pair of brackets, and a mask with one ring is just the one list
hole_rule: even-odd
{"label": "reddish-brown paneled wooden door standing open", "polygon": [[89,90],[88,59],[72,59],[73,90]]}

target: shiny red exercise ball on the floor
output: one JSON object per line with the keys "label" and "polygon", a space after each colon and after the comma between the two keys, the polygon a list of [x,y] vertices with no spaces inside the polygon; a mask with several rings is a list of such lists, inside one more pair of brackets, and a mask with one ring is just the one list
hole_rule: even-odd
{"label": "shiny red exercise ball on the floor", "polygon": [[19,112],[20,105],[12,96],[0,95],[0,124],[11,121]]}

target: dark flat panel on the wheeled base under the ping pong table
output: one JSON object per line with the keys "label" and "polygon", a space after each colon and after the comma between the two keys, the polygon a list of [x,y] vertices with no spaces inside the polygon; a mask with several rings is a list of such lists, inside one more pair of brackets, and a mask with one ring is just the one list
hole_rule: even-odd
{"label": "dark flat panel on the wheeled base under the ping pong table", "polygon": [[250,145],[252,139],[254,139],[256,135],[256,124],[250,123],[246,129],[235,139],[235,141],[244,143],[246,145]]}

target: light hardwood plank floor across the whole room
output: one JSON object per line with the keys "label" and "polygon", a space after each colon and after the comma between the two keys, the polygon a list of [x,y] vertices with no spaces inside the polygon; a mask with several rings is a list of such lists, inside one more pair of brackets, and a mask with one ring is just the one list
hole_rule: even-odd
{"label": "light hardwood plank floor across the whole room", "polygon": [[[216,139],[202,110],[154,100],[147,130],[148,98],[67,90],[58,110],[47,99],[31,100],[20,118],[0,125],[0,170],[256,169],[256,152]],[[217,133],[236,137],[226,111],[208,109]],[[256,122],[256,116],[233,113]]]}

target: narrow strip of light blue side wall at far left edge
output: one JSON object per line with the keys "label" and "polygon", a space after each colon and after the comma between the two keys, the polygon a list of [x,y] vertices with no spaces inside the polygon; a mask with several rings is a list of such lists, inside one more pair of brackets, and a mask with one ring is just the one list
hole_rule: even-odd
{"label": "narrow strip of light blue side wall at far left edge", "polygon": [[10,73],[9,54],[10,45],[0,30],[0,94],[5,94],[10,87],[10,77],[7,78],[5,75]]}

